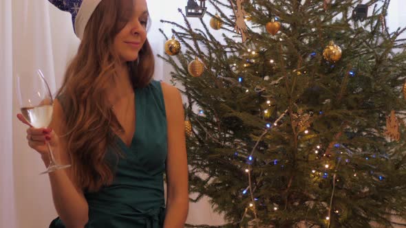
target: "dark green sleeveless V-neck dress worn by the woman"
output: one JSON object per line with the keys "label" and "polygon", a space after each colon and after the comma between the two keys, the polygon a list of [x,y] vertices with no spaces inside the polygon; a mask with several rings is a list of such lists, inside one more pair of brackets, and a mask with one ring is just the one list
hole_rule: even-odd
{"label": "dark green sleeveless V-neck dress worn by the woman", "polygon": [[[167,118],[161,84],[152,80],[135,93],[136,130],[131,146],[116,137],[125,157],[118,161],[114,183],[95,193],[85,192],[89,205],[85,228],[163,227]],[[63,227],[59,218],[50,225]]]}

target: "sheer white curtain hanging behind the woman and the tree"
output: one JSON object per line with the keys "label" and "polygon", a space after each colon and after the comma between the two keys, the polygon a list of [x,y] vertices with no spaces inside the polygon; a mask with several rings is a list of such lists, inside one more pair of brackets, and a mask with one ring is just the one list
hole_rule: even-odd
{"label": "sheer white curtain hanging behind the woman and the tree", "polygon": [[[388,25],[391,30],[405,26],[401,1],[392,0]],[[155,54],[162,54],[164,40],[158,28],[170,36],[172,27],[163,25],[160,19],[182,23],[178,8],[184,10],[187,1],[147,2],[153,19],[149,41]],[[209,19],[206,16],[204,20]],[[200,27],[197,19],[191,19],[191,23]],[[220,32],[213,34],[220,38]],[[55,92],[78,43],[70,14],[57,10],[46,0],[0,0],[0,227],[47,227],[56,216],[47,176],[39,175],[43,163],[26,143],[27,127],[15,117],[19,107],[13,74],[23,67],[39,67]],[[169,82],[170,69],[157,58],[155,78]],[[222,216],[212,211],[207,198],[203,198],[190,205],[187,223],[221,225]]]}

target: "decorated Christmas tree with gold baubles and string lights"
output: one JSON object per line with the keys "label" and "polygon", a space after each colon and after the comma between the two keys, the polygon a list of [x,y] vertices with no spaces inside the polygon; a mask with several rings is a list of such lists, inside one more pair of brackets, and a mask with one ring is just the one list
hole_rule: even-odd
{"label": "decorated Christmas tree with gold baubles and string lights", "polygon": [[[162,21],[160,58],[187,97],[191,200],[209,196],[224,227],[406,218],[405,29],[389,32],[389,0],[207,3],[217,12],[189,1],[184,23]],[[204,12],[210,26],[192,27]]]}

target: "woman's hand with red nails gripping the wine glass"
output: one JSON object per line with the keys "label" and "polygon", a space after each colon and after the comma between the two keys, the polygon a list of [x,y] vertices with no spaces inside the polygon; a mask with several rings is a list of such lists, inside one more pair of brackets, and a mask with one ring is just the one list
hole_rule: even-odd
{"label": "woman's hand with red nails gripping the wine glass", "polygon": [[[17,118],[23,124],[27,124],[30,128],[27,129],[27,140],[28,146],[39,152],[41,159],[45,163],[45,166],[50,164],[50,155],[47,148],[46,141],[50,143],[52,150],[57,150],[58,148],[58,135],[54,133],[52,128],[34,128],[21,114],[17,114]],[[58,152],[54,152],[56,161],[58,161]]]}

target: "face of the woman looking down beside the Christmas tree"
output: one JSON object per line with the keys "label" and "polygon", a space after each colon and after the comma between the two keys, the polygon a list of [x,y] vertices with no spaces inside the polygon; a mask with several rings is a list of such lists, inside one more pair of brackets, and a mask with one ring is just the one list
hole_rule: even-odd
{"label": "face of the woman looking down beside the Christmas tree", "polygon": [[114,49],[123,62],[134,61],[147,39],[147,1],[133,0],[132,14],[114,38]]}

